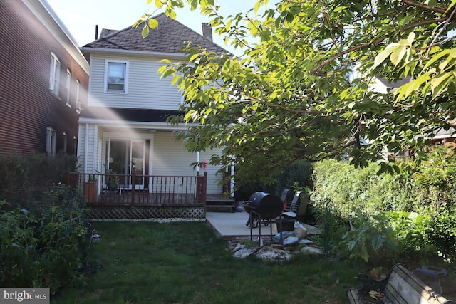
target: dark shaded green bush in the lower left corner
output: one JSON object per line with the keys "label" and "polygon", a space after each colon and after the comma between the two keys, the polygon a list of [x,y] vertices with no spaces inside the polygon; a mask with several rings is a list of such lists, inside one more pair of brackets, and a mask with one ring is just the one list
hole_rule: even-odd
{"label": "dark shaded green bush in the lower left corner", "polygon": [[81,192],[56,186],[47,210],[35,214],[0,206],[0,285],[47,287],[51,293],[77,283],[86,266],[88,231]]}

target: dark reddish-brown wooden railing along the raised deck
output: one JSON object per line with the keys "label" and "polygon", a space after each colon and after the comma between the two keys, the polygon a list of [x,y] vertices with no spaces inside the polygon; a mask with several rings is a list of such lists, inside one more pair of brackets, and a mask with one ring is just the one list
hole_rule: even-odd
{"label": "dark reddish-brown wooden railing along the raised deck", "polygon": [[89,206],[205,206],[207,174],[164,176],[68,173]]}

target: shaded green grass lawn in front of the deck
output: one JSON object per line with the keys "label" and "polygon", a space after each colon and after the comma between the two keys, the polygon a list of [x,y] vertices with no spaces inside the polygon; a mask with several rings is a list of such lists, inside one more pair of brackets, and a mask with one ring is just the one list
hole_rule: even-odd
{"label": "shaded green grass lawn in front of the deck", "polygon": [[348,303],[359,264],[297,255],[285,263],[232,256],[203,222],[94,222],[102,237],[86,285],[51,303]]}

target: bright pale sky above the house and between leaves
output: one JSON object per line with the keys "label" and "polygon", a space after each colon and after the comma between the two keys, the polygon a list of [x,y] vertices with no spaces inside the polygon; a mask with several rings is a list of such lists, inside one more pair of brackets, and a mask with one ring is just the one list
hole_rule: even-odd
{"label": "bright pale sky above the house and between leaves", "polygon": [[[95,26],[98,33],[102,28],[121,30],[127,28],[140,19],[142,14],[160,14],[155,11],[155,5],[147,4],[147,0],[46,0],[53,11],[63,21],[71,36],[76,39],[78,46],[84,46],[95,40]],[[254,6],[255,0],[218,0],[222,14],[237,14],[247,12]],[[199,14],[199,9],[178,9],[177,21],[202,33],[201,23],[208,22],[209,17]],[[214,42],[232,53],[239,53],[224,45],[222,37],[214,35]]]}

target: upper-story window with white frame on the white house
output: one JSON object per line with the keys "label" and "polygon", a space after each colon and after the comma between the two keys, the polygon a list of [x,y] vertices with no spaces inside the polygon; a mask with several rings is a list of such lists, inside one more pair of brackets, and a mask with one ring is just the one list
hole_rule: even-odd
{"label": "upper-story window with white frame on the white house", "polygon": [[104,91],[128,93],[128,61],[105,61]]}

